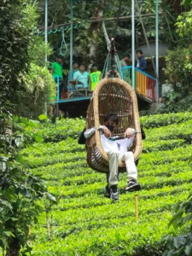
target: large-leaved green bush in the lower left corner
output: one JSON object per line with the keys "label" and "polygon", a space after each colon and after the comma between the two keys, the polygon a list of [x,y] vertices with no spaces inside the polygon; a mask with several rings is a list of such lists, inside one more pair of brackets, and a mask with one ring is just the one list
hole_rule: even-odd
{"label": "large-leaved green bush in the lower left corner", "polygon": [[20,248],[31,251],[26,240],[30,225],[38,222],[43,211],[38,200],[55,202],[44,179],[26,171],[26,161],[20,155],[20,149],[28,144],[27,137],[42,141],[36,131],[38,125],[37,121],[15,116],[14,127],[22,134],[0,136],[0,247],[7,255],[19,255]]}

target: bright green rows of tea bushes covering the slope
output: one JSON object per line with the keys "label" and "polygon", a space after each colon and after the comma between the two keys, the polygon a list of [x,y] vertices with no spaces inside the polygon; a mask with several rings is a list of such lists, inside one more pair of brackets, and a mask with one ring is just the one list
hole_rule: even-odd
{"label": "bright green rows of tea bushes covering the slope", "polygon": [[84,119],[61,119],[42,128],[44,143],[23,150],[28,168],[47,179],[57,205],[46,207],[32,226],[32,255],[162,255],[159,241],[177,201],[186,199],[192,183],[192,114],[170,113],[141,118],[146,140],[137,166],[142,191],[139,219],[135,194],[125,193],[120,175],[119,202],[103,196],[104,174],[86,165],[84,145],[77,143]]}

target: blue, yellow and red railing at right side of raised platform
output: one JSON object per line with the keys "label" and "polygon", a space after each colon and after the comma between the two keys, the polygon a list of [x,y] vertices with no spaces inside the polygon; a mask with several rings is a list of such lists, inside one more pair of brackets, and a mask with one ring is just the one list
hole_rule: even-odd
{"label": "blue, yellow and red railing at right side of raised platform", "polygon": [[[135,67],[135,71],[137,93],[155,102],[155,87],[157,84],[157,79],[154,79],[148,73],[139,70],[137,67]],[[131,84],[131,73],[131,66],[122,68],[122,78],[129,84]]]}

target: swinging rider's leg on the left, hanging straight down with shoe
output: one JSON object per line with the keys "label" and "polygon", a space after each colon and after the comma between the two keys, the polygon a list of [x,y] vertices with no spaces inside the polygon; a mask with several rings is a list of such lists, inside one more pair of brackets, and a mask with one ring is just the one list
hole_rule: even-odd
{"label": "swinging rider's leg on the left, hanging straight down with shoe", "polygon": [[111,192],[111,199],[118,200],[118,154],[114,152],[108,153],[109,158],[109,177],[108,177],[108,186]]}

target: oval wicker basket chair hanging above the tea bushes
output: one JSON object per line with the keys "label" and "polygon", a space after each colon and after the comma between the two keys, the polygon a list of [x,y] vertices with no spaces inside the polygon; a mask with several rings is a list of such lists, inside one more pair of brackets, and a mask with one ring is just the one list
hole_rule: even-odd
{"label": "oval wicker basket chair hanging above the tea bushes", "polygon": [[[114,129],[114,136],[123,136],[128,127],[137,131],[131,148],[134,160],[137,160],[142,152],[142,134],[136,93],[130,84],[120,79],[118,73],[116,76],[116,78],[109,78],[107,75],[96,85],[87,110],[86,128],[96,127],[95,135],[87,139],[87,163],[97,172],[109,172],[108,154],[102,148],[101,135],[98,131],[107,113],[117,113],[119,117],[119,125]],[[125,171],[125,162],[119,161],[119,172]]]}

